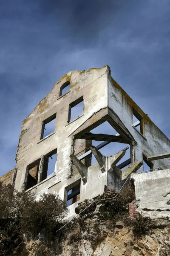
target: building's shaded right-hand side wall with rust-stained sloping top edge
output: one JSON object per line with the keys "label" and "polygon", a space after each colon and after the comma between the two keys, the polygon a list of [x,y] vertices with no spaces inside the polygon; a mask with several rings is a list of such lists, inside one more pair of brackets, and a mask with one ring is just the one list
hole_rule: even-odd
{"label": "building's shaded right-hand side wall with rust-stained sloping top edge", "polygon": [[[139,108],[139,106],[125,93],[125,91],[108,74],[108,107],[111,108],[122,120],[130,134],[136,140],[135,160],[142,160],[142,154],[147,157],[170,152],[170,140],[150,120],[150,118]],[[134,108],[142,117],[144,122],[144,136],[132,126]],[[169,159],[152,161],[154,168],[170,164]],[[167,167],[162,167],[166,169]],[[143,171],[143,166],[139,172]]]}

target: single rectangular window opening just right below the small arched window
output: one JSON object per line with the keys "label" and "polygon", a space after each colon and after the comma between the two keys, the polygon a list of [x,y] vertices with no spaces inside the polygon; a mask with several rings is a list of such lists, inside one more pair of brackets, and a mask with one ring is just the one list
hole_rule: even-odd
{"label": "single rectangular window opening just right below the small arched window", "polygon": [[68,123],[78,116],[81,116],[83,112],[83,96],[75,100],[69,105],[68,109]]}

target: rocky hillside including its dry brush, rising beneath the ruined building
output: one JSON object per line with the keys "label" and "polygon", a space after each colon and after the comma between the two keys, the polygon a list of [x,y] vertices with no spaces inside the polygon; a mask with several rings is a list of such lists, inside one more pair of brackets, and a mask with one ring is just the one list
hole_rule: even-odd
{"label": "rocky hillside including its dry brush, rising beneath the ruined building", "polygon": [[126,186],[115,199],[108,200],[116,193],[108,190],[98,198],[104,201],[79,204],[76,212],[82,213],[62,233],[56,233],[53,249],[39,240],[29,241],[23,256],[169,256],[169,218],[131,216],[133,186]]}

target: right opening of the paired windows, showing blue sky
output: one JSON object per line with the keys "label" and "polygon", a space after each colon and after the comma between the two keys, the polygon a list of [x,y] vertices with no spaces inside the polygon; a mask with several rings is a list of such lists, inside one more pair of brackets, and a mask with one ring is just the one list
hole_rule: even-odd
{"label": "right opening of the paired windows, showing blue sky", "polygon": [[44,159],[44,166],[42,171],[42,180],[45,180],[49,175],[55,172],[57,163],[57,152],[47,154]]}

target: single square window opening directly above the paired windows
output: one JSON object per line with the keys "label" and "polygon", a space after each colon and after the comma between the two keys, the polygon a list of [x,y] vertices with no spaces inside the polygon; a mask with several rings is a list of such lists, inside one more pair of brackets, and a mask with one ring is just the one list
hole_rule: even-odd
{"label": "single square window opening directly above the paired windows", "polygon": [[42,122],[42,130],[40,140],[55,131],[56,113]]}

